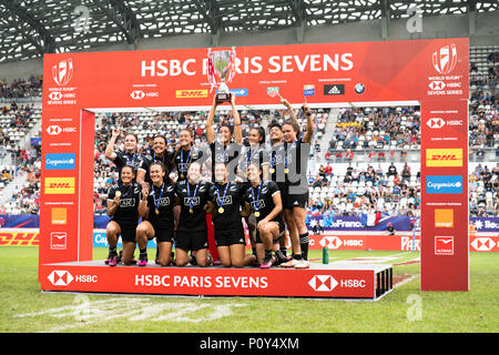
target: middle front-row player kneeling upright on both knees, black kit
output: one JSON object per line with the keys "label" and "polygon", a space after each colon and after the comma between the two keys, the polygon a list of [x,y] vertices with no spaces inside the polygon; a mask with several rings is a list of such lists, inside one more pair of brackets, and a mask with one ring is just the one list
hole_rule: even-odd
{"label": "middle front-row player kneeling upright on both knees, black kit", "polygon": [[193,162],[187,170],[187,180],[175,184],[181,213],[176,229],[175,251],[176,266],[184,266],[189,261],[189,251],[195,252],[198,266],[208,265],[208,241],[206,213],[213,211],[210,201],[211,182],[202,181],[202,165]]}

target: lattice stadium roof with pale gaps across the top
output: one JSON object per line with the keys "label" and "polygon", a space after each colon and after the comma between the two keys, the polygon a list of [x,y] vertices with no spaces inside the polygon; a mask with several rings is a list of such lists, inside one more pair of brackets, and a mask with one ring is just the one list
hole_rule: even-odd
{"label": "lattice stadium roof with pale gaps across the top", "polygon": [[497,11],[497,0],[1,0],[0,63],[179,34]]}

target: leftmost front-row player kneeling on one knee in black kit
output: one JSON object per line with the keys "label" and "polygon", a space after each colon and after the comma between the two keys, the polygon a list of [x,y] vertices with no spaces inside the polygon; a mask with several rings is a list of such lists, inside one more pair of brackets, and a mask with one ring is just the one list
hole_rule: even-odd
{"label": "leftmost front-row player kneeling on one knee in black kit", "polygon": [[[125,165],[121,170],[121,182],[112,185],[108,192],[108,215],[111,221],[105,227],[109,243],[109,256],[105,263],[116,266],[121,261],[130,265],[135,251],[135,229],[139,223],[140,187],[133,182],[135,173],[133,168]],[[123,243],[123,255],[116,252],[118,237]]]}

